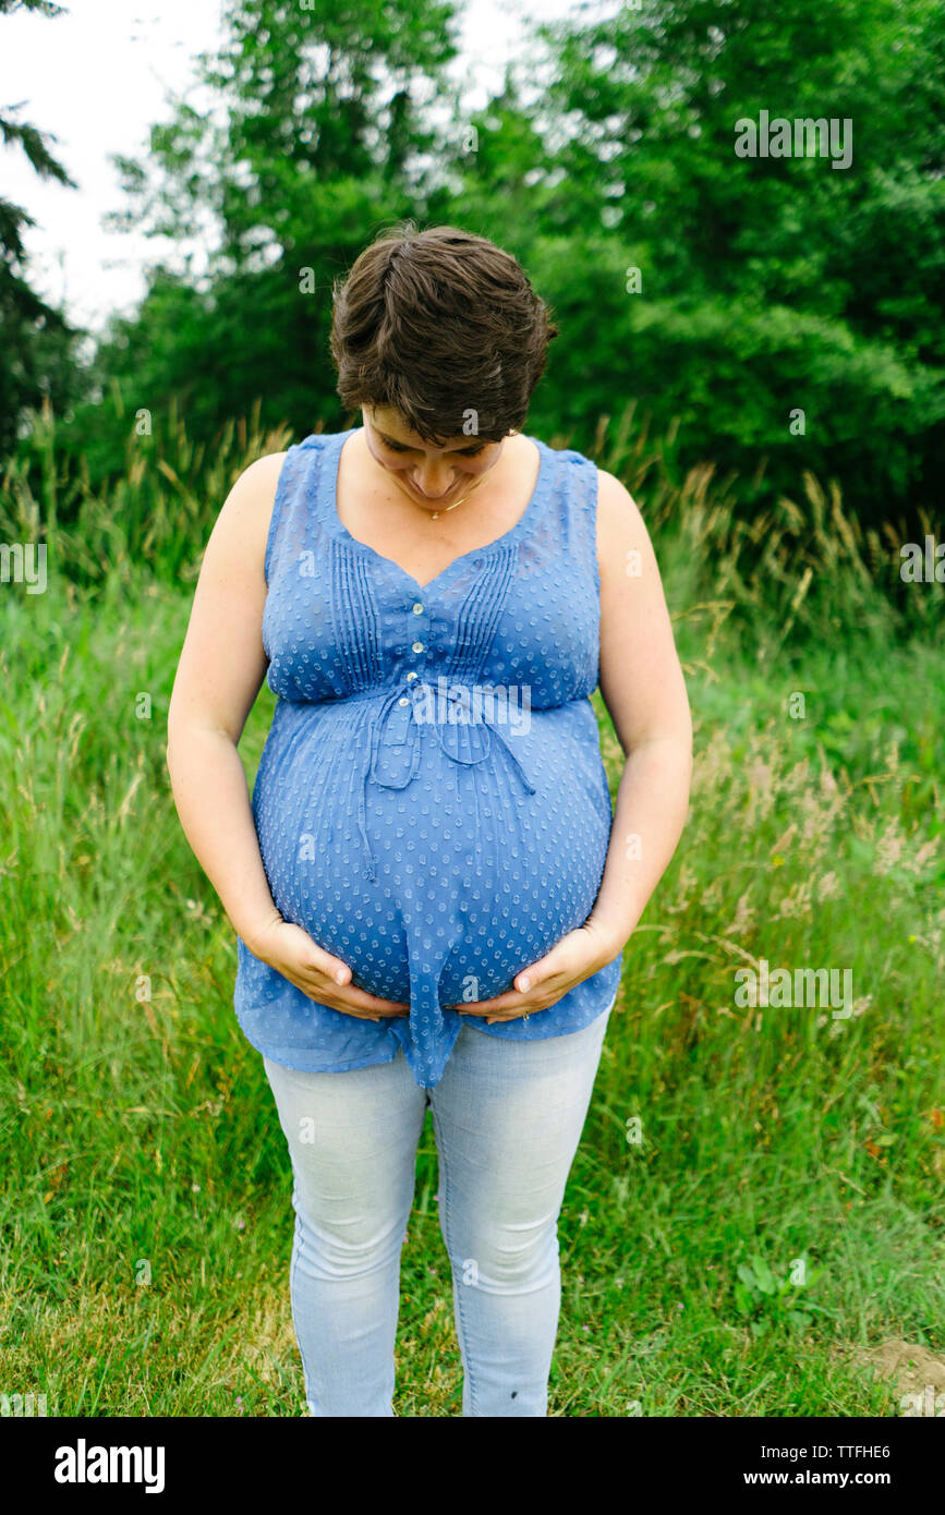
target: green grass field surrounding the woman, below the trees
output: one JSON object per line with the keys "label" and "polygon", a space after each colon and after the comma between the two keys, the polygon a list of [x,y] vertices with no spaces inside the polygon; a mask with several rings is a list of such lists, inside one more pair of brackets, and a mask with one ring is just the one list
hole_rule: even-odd
{"label": "green grass field surrounding the woman, below the trees", "polygon": [[[745,529],[707,473],[659,482],[618,454],[598,462],[651,524],[697,764],[568,1183],[550,1413],[900,1415],[865,1354],[945,1354],[942,588],[895,606],[892,545],[812,483],[804,512]],[[288,1153],[164,758],[226,485],[201,504],[167,467],[144,506],[154,470],[130,470],[68,526],[51,473],[36,500],[5,480],[0,538],[45,541],[48,586],[0,585],[0,1394],[304,1415]],[[271,709],[264,688],[248,777]],[[741,1004],[736,970],[760,959],[850,970],[851,1012]],[[427,1115],[398,1415],[460,1410],[436,1183]]]}

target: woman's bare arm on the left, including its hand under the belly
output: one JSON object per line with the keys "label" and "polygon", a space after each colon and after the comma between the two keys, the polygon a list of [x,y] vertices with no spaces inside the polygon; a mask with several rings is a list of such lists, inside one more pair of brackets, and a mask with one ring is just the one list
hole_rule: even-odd
{"label": "woman's bare arm on the left, including its hand under the belly", "polygon": [[251,464],[211,532],[168,711],[168,773],[186,839],[250,951],[310,998],[377,1018],[394,1001],[351,986],[347,964],[276,907],[238,751],[268,667],[264,562],[283,459]]}

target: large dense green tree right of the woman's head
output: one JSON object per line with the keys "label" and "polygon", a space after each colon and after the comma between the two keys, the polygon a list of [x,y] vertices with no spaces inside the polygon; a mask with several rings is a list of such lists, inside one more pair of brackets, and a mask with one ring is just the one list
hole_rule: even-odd
{"label": "large dense green tree right of the woman's head", "polygon": [[[940,0],[647,0],[539,36],[554,59],[545,111],[568,123],[547,165],[562,171],[569,227],[609,238],[642,274],[622,317],[613,288],[588,280],[613,359],[607,409],[633,395],[657,427],[677,415],[691,461],[744,473],[766,459],[768,494],[795,492],[810,468],[837,477],[862,518],[937,512]],[[850,121],[851,164],[738,156],[736,123],[762,112]],[[563,326],[556,348],[585,429],[600,385],[582,379],[601,373],[588,326],[575,344]]]}

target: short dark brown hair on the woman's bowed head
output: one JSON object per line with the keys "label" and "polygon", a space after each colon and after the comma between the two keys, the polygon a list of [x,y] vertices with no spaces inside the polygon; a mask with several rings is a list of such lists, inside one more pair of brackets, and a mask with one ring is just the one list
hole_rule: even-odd
{"label": "short dark brown hair on the woman's bowed head", "polygon": [[456,226],[379,236],[333,286],[338,394],[389,406],[424,441],[519,430],[557,336],[518,261]]}

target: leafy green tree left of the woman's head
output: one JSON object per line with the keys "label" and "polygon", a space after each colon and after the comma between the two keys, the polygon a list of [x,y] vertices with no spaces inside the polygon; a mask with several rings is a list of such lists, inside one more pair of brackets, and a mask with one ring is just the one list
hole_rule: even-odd
{"label": "leafy green tree left of the woman's head", "polygon": [[100,345],[101,386],[135,408],[176,395],[209,438],[262,398],[262,424],[341,421],[329,356],[332,280],[376,232],[423,206],[454,56],[442,0],[229,0],[220,56],[200,61],[215,105],[176,105],[147,161],[117,158],[139,226],[211,245],[206,271],[156,268],[130,321]]}

